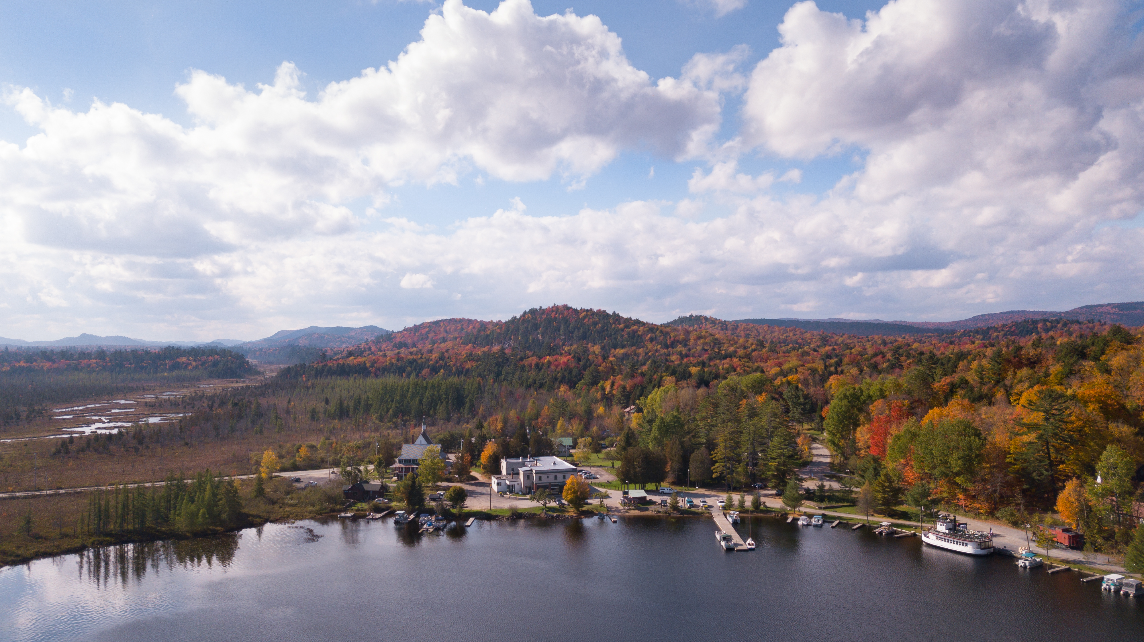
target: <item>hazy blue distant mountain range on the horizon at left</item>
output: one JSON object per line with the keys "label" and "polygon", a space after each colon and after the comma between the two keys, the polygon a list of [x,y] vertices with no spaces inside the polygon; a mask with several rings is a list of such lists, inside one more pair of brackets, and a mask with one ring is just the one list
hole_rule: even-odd
{"label": "hazy blue distant mountain range on the horizon at left", "polygon": [[357,345],[363,342],[367,342],[379,335],[388,335],[389,330],[379,328],[378,326],[364,326],[362,328],[345,328],[345,327],[334,327],[334,328],[319,328],[318,326],[310,326],[309,328],[303,328],[301,330],[280,330],[273,335],[253,342],[245,342],[241,339],[213,339],[209,342],[152,342],[146,339],[134,339],[132,337],[124,336],[109,336],[100,337],[96,335],[82,334],[78,337],[65,337],[55,340],[45,342],[26,342],[24,339],[8,339],[0,337],[0,346],[18,346],[18,347],[162,347],[167,345],[177,345],[184,347],[191,346],[215,346],[215,347],[231,347],[239,352],[247,352],[248,350],[265,350],[276,347],[286,347],[291,345],[305,346],[305,347],[349,347]]}

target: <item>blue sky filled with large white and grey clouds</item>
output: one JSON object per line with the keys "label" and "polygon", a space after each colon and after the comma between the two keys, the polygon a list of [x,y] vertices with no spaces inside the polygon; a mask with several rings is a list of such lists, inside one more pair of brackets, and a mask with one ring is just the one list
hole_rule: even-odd
{"label": "blue sky filled with large white and grey clouds", "polygon": [[1142,5],[0,7],[0,337],[1144,299]]}

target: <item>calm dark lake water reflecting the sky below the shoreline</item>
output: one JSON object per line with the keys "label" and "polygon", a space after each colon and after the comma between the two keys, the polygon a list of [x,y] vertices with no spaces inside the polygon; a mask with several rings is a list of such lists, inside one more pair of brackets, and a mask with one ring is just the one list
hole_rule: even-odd
{"label": "calm dark lake water reflecting the sky below the shoreline", "polygon": [[[746,529],[744,524],[742,530]],[[1138,640],[1144,600],[865,529],[302,522],[0,570],[0,640]],[[908,637],[907,637],[908,636]]]}

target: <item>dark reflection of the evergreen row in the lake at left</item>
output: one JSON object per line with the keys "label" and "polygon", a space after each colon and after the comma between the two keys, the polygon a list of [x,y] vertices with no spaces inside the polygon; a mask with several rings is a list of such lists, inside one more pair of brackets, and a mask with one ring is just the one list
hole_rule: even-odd
{"label": "dark reflection of the evergreen row in the lake at left", "polygon": [[175,541],[145,541],[88,548],[76,555],[79,578],[96,587],[128,586],[140,583],[148,569],[197,570],[217,563],[227,568],[235,559],[243,535],[224,533],[215,537]]}

